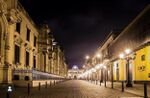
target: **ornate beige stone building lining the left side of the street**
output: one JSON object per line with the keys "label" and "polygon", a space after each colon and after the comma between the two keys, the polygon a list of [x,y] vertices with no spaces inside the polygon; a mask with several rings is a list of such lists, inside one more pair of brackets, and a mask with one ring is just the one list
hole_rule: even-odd
{"label": "ornate beige stone building lining the left side of the street", "polygon": [[37,27],[18,0],[0,1],[0,28],[0,83],[66,76],[63,52],[57,59],[59,72],[54,71],[50,29],[46,24]]}

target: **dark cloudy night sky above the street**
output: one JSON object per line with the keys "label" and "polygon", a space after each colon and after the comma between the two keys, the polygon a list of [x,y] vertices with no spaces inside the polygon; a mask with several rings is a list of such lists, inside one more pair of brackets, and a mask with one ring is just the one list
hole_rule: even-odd
{"label": "dark cloudy night sky above the street", "polygon": [[123,29],[149,4],[149,0],[20,2],[37,24],[49,24],[69,67],[82,66],[85,55],[94,53],[112,29]]}

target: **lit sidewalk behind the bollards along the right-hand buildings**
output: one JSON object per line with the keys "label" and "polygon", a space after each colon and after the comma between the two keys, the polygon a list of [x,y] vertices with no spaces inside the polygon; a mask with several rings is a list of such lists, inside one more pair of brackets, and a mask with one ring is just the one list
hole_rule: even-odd
{"label": "lit sidewalk behind the bollards along the right-hand buildings", "polygon": [[[90,81],[89,81],[90,82]],[[92,82],[94,83],[94,82]],[[96,84],[96,82],[95,82]],[[97,82],[97,85],[100,85],[99,82]],[[104,86],[104,82],[101,83],[101,86]],[[106,83],[107,88],[111,88],[111,82]],[[122,83],[121,82],[114,82],[114,89],[116,90],[122,90]],[[124,91],[128,93],[132,93],[139,96],[144,96],[144,84],[133,84],[133,87],[126,87],[124,83]],[[150,85],[147,85],[147,96],[150,98]]]}

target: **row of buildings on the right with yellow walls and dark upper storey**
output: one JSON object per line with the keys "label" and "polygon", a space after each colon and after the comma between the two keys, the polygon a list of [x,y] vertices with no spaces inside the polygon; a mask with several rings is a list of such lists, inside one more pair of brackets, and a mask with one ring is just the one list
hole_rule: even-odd
{"label": "row of buildings on the right with yellow walls and dark upper storey", "polygon": [[[150,5],[125,29],[112,31],[96,53],[90,58],[88,78],[103,81],[126,81],[131,87],[135,82],[150,81]],[[97,57],[96,54],[101,54]],[[90,74],[90,75],[89,75]]]}

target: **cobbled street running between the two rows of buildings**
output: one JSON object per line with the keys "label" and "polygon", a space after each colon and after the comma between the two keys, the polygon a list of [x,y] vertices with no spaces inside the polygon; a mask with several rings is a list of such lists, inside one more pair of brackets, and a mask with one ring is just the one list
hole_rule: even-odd
{"label": "cobbled street running between the two rows of buildings", "polygon": [[34,88],[31,90],[29,96],[27,96],[27,92],[23,89],[25,88],[19,90],[21,95],[16,96],[16,94],[12,94],[10,98],[138,98],[138,96],[134,94],[127,92],[122,93],[120,90],[112,90],[82,80],[61,82],[47,89],[43,87],[41,91]]}

